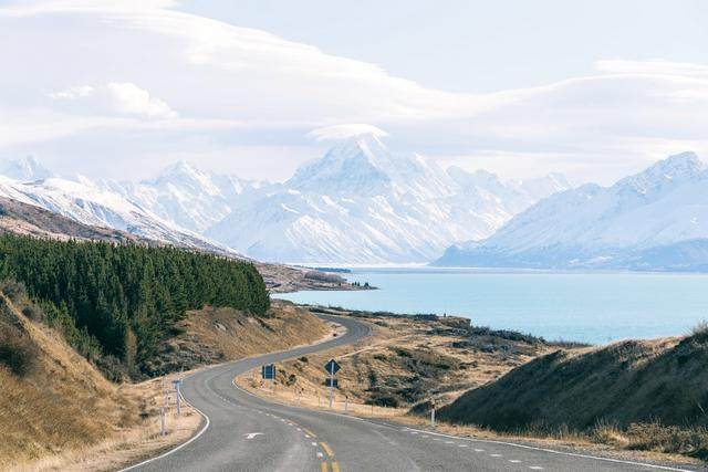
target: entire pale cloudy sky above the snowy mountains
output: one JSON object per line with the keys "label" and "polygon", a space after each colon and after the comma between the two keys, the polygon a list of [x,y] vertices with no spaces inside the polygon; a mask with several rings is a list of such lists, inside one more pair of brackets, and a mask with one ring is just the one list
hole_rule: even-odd
{"label": "entire pale cloudy sky above the snowy mountains", "polygon": [[[708,160],[708,2],[0,0],[0,159],[283,180],[313,129],[503,177]],[[316,133],[315,133],[316,134]]]}

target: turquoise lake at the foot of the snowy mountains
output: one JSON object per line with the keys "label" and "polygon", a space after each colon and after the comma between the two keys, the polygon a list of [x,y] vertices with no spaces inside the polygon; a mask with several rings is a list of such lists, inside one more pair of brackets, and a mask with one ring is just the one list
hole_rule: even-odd
{"label": "turquoise lake at the foot of the snowy mountains", "polygon": [[358,292],[296,292],[298,303],[468,317],[472,324],[602,344],[681,335],[708,319],[708,274],[355,269]]}

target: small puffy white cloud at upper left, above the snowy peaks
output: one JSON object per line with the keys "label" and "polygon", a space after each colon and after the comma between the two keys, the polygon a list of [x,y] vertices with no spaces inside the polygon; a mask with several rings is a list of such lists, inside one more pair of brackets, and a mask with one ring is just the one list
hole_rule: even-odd
{"label": "small puffy white cloud at upper left, above the snowy peaks", "polygon": [[150,119],[177,117],[177,113],[165,102],[129,82],[110,82],[100,87],[77,85],[52,92],[49,96],[64,105],[66,111],[85,114],[103,112]]}

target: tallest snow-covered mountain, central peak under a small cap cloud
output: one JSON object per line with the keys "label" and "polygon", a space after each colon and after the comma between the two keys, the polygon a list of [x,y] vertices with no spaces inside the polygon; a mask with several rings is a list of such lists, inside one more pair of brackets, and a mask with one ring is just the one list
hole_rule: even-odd
{"label": "tallest snow-covered mountain, central peak under a small cap cloud", "polygon": [[269,261],[427,262],[569,188],[559,176],[522,183],[447,172],[421,156],[391,153],[381,136],[357,133],[337,143],[206,234]]}

